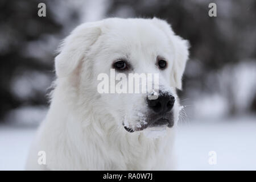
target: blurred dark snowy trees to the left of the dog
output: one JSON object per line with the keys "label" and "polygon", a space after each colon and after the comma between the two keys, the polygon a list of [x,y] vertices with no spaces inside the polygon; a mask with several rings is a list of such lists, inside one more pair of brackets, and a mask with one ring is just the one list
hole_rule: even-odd
{"label": "blurred dark snowy trees to the left of the dog", "polygon": [[[46,17],[38,16],[40,2],[47,5]],[[65,26],[78,23],[77,11],[60,1],[2,0],[0,7],[0,121],[38,122],[54,77],[55,50]]]}

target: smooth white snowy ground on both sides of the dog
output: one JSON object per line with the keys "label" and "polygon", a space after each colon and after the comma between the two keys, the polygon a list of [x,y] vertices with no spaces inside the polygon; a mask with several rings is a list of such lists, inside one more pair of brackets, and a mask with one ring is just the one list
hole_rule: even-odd
{"label": "smooth white snowy ground on both sides of the dog", "polygon": [[[22,170],[34,128],[0,125],[0,170]],[[181,170],[256,170],[255,117],[179,125],[176,154]],[[209,151],[216,152],[210,165]]]}

